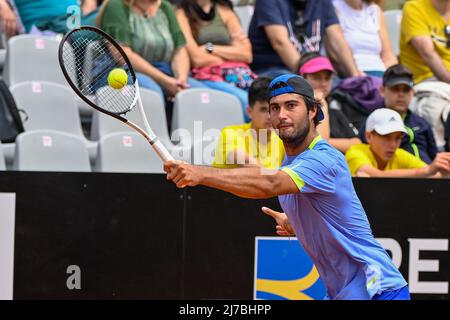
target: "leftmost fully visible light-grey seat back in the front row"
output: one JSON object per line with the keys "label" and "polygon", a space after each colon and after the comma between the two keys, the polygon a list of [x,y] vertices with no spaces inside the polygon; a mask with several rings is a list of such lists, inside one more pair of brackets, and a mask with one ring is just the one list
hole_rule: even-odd
{"label": "leftmost fully visible light-grey seat back in the front row", "polygon": [[52,130],[21,133],[16,139],[15,170],[89,172],[85,142],[77,136]]}

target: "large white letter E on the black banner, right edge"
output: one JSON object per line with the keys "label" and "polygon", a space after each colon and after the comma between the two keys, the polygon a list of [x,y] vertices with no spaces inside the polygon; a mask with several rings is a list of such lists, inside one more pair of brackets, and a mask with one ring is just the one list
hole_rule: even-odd
{"label": "large white letter E on the black banner, right edge", "polygon": [[448,251],[448,239],[408,239],[411,293],[448,294],[448,281],[419,281],[419,272],[439,272],[439,260],[420,260],[420,251]]}

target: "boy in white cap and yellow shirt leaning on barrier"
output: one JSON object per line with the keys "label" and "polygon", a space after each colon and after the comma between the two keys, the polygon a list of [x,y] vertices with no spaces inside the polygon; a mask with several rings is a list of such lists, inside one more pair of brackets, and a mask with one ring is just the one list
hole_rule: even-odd
{"label": "boy in white cap and yellow shirt leaning on barrier", "polygon": [[408,134],[400,115],[391,109],[377,109],[367,118],[366,139],[346,153],[350,172],[358,177],[444,177],[450,174],[450,153],[439,153],[427,165],[400,149],[403,135]]}

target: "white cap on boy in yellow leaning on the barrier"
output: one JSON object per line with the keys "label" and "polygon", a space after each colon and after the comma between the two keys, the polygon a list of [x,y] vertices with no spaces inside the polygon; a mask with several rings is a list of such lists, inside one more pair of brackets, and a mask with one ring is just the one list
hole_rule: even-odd
{"label": "white cap on boy in yellow leaning on the barrier", "polygon": [[374,131],[382,136],[393,132],[408,134],[400,114],[392,109],[381,108],[373,111],[366,121],[366,131]]}

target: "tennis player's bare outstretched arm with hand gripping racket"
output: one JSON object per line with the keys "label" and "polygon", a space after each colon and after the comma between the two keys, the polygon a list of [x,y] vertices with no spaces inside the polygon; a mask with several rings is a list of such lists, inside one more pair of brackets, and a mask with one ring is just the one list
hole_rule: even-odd
{"label": "tennis player's bare outstretched arm with hand gripping racket", "polygon": [[167,180],[178,188],[205,185],[243,198],[264,199],[299,192],[287,173],[258,167],[218,169],[195,166],[183,161],[164,162]]}

